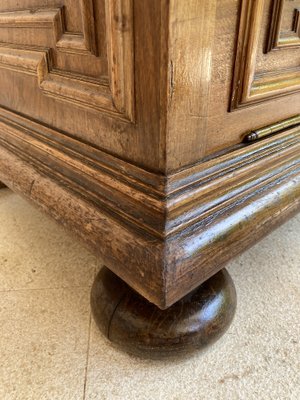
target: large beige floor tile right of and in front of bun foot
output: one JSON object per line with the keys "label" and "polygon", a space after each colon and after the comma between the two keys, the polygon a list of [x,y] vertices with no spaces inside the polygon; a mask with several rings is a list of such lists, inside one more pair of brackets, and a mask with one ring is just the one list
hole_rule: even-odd
{"label": "large beige floor tile right of and in front of bun foot", "polygon": [[229,266],[238,310],[228,333],[187,360],[143,361],[115,350],[92,324],[89,400],[298,400],[300,218]]}

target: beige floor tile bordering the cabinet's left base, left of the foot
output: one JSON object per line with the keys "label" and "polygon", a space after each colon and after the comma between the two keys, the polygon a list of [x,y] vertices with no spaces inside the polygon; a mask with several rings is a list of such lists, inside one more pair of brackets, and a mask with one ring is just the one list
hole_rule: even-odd
{"label": "beige floor tile bordering the cabinet's left base, left of the foot", "polygon": [[91,286],[99,263],[52,219],[0,190],[0,291]]}

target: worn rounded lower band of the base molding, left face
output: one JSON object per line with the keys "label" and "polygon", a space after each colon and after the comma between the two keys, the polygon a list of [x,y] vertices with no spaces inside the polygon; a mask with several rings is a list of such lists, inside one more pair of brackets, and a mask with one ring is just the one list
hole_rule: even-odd
{"label": "worn rounded lower band of the base molding, left face", "polygon": [[[0,145],[0,181],[82,239],[133,289],[162,304],[162,243],[120,222]],[[139,284],[140,282],[140,284]]]}

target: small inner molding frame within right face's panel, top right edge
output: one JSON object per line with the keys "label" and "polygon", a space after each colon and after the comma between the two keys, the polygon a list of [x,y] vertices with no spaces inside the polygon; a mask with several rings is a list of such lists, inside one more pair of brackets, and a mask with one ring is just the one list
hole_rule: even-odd
{"label": "small inner molding frame within right face's panel, top right edge", "polygon": [[274,0],[267,52],[300,46],[300,9],[295,9],[292,30],[282,32],[283,8],[284,0]]}

